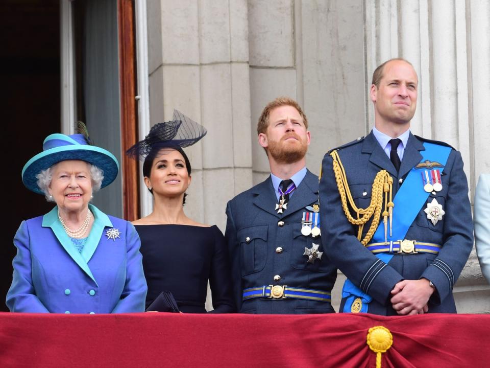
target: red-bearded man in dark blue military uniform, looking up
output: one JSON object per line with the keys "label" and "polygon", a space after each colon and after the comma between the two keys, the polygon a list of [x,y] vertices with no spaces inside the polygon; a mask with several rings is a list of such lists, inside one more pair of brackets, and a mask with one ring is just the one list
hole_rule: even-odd
{"label": "red-bearded man in dark blue military uniform, looking up", "polygon": [[306,169],[308,120],[277,98],[257,125],[271,176],[227,204],[225,238],[242,313],[332,313],[337,276],[320,234],[318,177]]}

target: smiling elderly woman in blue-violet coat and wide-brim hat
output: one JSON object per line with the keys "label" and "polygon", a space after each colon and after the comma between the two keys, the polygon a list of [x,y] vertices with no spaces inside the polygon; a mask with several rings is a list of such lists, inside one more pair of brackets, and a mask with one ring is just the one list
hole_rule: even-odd
{"label": "smiling elderly woman in blue-violet coat and wide-brim hat", "polygon": [[43,152],[24,166],[24,185],[56,206],[22,221],[15,235],[17,255],[7,294],[12,312],[144,310],[146,282],[135,228],[89,203],[118,169],[116,158],[91,145],[86,133],[51,134]]}

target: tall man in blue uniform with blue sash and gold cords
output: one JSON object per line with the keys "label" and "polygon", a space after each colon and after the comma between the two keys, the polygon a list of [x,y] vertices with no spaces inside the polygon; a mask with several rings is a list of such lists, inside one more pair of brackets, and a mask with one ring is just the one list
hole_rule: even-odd
{"label": "tall man in blue uniform with blue sash and gold cords", "polygon": [[406,60],[380,65],[372,132],[323,160],[321,230],[349,279],[343,312],[456,312],[452,288],[473,246],[468,183],[458,151],[410,133],[417,88]]}

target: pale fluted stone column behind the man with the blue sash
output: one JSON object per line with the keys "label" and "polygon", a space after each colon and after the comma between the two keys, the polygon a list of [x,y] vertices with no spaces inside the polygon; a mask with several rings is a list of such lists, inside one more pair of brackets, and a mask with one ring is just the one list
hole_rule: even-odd
{"label": "pale fluted stone column behind the man with the blue sash", "polygon": [[[486,122],[490,5],[464,0],[368,0],[364,11],[366,74],[393,57],[413,64],[419,75],[419,99],[411,130],[461,152],[472,198],[478,174],[490,171]],[[368,116],[372,124],[373,114]],[[490,311],[490,290],[475,251],[454,295],[460,312]]]}

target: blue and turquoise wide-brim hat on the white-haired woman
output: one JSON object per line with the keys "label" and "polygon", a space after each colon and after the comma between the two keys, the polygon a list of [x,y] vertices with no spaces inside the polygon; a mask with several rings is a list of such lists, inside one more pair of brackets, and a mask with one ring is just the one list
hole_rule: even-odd
{"label": "blue and turquoise wide-brim hat on the white-haired woman", "polygon": [[32,157],[22,169],[22,182],[27,189],[44,194],[37,186],[36,175],[65,160],[82,160],[104,171],[101,188],[107,187],[117,176],[119,163],[104,148],[89,145],[83,134],[51,134],[42,144],[42,152]]}

